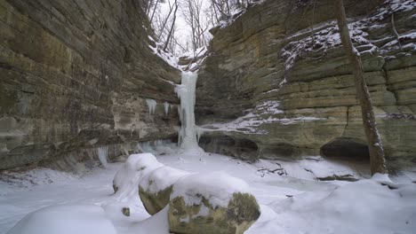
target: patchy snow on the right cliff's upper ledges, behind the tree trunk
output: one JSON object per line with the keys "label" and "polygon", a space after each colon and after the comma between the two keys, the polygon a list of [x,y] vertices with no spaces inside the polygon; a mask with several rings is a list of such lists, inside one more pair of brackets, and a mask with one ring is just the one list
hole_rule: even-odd
{"label": "patchy snow on the right cliff's upper ledges, behind the tree trunk", "polygon": [[[373,40],[367,32],[372,29],[391,27],[390,18],[393,14],[412,11],[416,7],[413,0],[386,0],[384,4],[372,14],[362,20],[356,20],[348,24],[351,40],[355,43],[356,48],[362,46],[360,53],[369,52],[372,54],[380,54],[384,58],[389,58],[389,52],[399,48],[399,41],[391,35],[391,38],[385,37],[381,40],[393,39],[389,43],[382,43],[377,46],[377,40]],[[340,34],[338,33],[336,20],[327,21],[314,27],[308,27],[293,35],[286,36],[287,43],[282,49],[282,57],[285,59],[285,69],[290,70],[300,58],[305,58],[306,54],[313,52],[321,52],[326,54],[334,47],[340,46]],[[300,38],[300,36],[304,36]],[[308,36],[305,36],[308,35]],[[402,49],[412,53],[416,48],[414,43],[414,32],[407,35],[399,35],[400,39],[406,38],[407,43],[402,44]],[[379,39],[380,40],[380,39]],[[358,52],[358,51],[356,51]]]}

